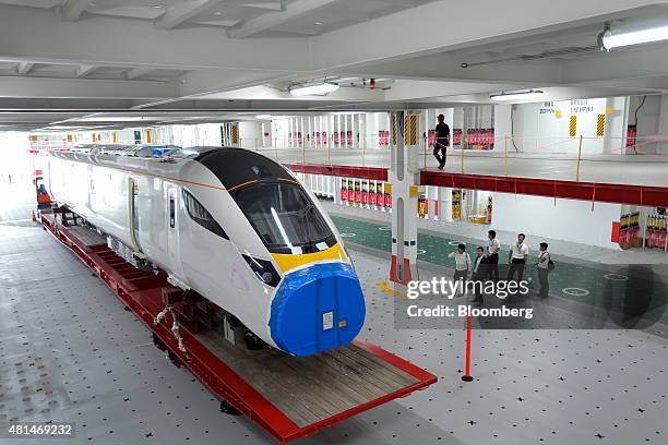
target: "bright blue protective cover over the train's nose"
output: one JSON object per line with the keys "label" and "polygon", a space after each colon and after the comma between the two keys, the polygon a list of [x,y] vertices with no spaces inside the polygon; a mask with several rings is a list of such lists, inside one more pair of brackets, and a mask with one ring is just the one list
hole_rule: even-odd
{"label": "bright blue protective cover over the train's nose", "polygon": [[353,267],[314,264],[287,274],[272,302],[272,338],[284,351],[310,356],[353,341],[365,323],[365,297]]}

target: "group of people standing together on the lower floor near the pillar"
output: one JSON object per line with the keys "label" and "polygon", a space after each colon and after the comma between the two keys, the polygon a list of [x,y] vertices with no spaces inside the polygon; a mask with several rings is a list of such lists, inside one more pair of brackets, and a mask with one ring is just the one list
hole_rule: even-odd
{"label": "group of people standing together on the lower floor near the pillar", "polygon": [[[466,279],[470,276],[473,281],[492,280],[499,281],[499,253],[501,252],[501,243],[497,239],[497,232],[489,230],[487,232],[488,241],[485,248],[476,249],[476,257],[472,262],[466,244],[458,244],[454,252],[449,257],[455,260],[454,280],[463,280],[466,288]],[[525,243],[524,233],[517,234],[515,242],[508,253],[508,276],[506,281],[522,281],[524,278],[524,268],[528,264],[528,245]],[[540,281],[540,290],[537,292],[542,298],[548,297],[550,291],[548,274],[553,268],[553,262],[548,252],[548,243],[540,243],[540,253],[536,263],[538,269],[538,279]],[[474,303],[481,304],[484,302],[480,287],[475,287],[476,297]]]}

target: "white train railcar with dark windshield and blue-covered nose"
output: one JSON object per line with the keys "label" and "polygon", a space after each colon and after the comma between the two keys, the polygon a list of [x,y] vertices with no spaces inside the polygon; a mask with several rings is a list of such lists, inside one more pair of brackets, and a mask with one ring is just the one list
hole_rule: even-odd
{"label": "white train railcar with dark windshield and blue-covered nose", "polygon": [[308,356],[357,336],[365,301],[350,258],[289,170],[239,148],[121,152],[50,154],[51,196],[272,347]]}

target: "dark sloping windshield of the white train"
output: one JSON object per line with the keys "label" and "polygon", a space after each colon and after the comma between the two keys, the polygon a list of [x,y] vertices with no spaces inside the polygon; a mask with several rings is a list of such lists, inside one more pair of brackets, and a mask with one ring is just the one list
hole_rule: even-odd
{"label": "dark sloping windshield of the white train", "polygon": [[260,182],[232,192],[262,241],[273,253],[313,253],[336,238],[303,189],[289,182]]}

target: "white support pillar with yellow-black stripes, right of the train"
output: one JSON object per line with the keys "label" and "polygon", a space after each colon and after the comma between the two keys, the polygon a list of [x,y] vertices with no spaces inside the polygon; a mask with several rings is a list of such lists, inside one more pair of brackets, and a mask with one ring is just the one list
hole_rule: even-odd
{"label": "white support pillar with yellow-black stripes, right of the train", "polygon": [[392,190],[392,263],[390,280],[396,288],[418,279],[417,270],[417,202],[418,151],[420,144],[418,111],[390,112]]}

